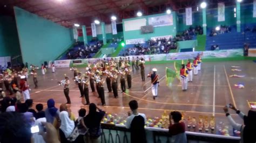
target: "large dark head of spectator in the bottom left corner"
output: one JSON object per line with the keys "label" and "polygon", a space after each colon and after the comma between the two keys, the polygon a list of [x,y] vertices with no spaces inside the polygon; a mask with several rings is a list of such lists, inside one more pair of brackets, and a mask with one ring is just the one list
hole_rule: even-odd
{"label": "large dark head of spectator in the bottom left corner", "polygon": [[[31,113],[32,114],[32,113]],[[5,112],[0,114],[0,142],[31,142],[31,125],[24,120],[22,113]]]}

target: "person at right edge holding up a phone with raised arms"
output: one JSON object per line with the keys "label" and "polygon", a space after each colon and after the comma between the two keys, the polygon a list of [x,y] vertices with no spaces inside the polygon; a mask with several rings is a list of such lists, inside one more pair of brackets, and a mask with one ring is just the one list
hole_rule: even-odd
{"label": "person at right edge holding up a phone with raised arms", "polygon": [[[234,110],[239,117],[244,120],[244,125],[235,123],[230,113],[228,112],[228,108]],[[256,112],[249,110],[248,115],[244,115],[241,111],[239,111],[233,104],[229,104],[229,106],[224,106],[224,112],[226,113],[227,120],[230,122],[234,130],[241,132],[241,142],[256,142],[255,138],[255,128],[256,128]]]}

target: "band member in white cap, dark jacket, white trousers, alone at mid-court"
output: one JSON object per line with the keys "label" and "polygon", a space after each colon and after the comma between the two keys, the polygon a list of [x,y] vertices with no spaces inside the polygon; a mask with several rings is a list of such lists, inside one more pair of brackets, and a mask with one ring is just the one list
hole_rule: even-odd
{"label": "band member in white cap, dark jacket, white trousers, alone at mid-court", "polygon": [[152,95],[153,95],[153,99],[156,99],[157,94],[158,94],[158,86],[159,86],[158,78],[159,78],[159,75],[157,74],[157,69],[156,68],[153,68],[152,71],[153,71],[153,74],[148,74],[147,77],[151,77]]}

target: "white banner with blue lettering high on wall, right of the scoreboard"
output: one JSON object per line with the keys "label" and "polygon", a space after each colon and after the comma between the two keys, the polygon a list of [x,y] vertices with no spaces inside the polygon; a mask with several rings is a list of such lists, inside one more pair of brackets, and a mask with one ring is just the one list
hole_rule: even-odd
{"label": "white banner with blue lettering high on wall, right of the scoreboard", "polygon": [[173,25],[173,17],[171,15],[149,17],[149,25],[154,27]]}

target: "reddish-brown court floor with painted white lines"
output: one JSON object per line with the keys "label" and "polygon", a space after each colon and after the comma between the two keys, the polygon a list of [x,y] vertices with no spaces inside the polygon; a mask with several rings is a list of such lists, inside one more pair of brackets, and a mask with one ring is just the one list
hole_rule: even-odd
{"label": "reddish-brown court floor with painted white lines", "polygon": [[[240,66],[242,71],[232,71],[231,66]],[[118,98],[114,98],[112,93],[107,92],[105,85],[106,106],[100,107],[107,112],[117,113],[119,116],[126,116],[129,111],[129,101],[136,99],[139,102],[139,112],[146,113],[147,117],[161,116],[165,110],[178,110],[185,112],[185,116],[198,118],[199,115],[215,116],[217,123],[226,122],[223,107],[232,103],[238,109],[245,112],[249,109],[248,101],[256,101],[256,63],[253,61],[230,61],[230,62],[206,62],[202,63],[201,71],[197,76],[193,76],[193,82],[188,83],[188,90],[181,90],[181,83],[178,80],[173,82],[173,86],[167,87],[165,84],[165,67],[173,68],[173,63],[161,65],[146,65],[146,74],[152,68],[158,69],[160,75],[159,94],[156,100],[152,98],[150,78],[142,82],[140,72],[134,71],[132,74],[132,88],[126,93],[120,92],[120,82]],[[83,71],[83,69],[79,69]],[[41,72],[38,71],[40,74]],[[49,98],[55,99],[57,107],[61,103],[66,103],[63,94],[63,87],[57,84],[64,79],[64,74],[73,77],[73,72],[69,68],[57,68],[56,73],[48,73],[38,77],[38,89],[33,88],[32,79],[30,95],[35,103],[46,103]],[[236,78],[230,75],[245,75]],[[119,80],[118,80],[119,81]],[[234,84],[244,83],[245,88],[235,88]],[[127,87],[127,82],[126,82]],[[90,88],[89,88],[90,89]],[[83,107],[87,109],[84,98],[79,98],[79,89],[74,82],[71,82],[70,98],[72,104],[70,109],[75,115]],[[100,104],[97,92],[90,91],[90,102]],[[46,106],[46,104],[45,104]],[[242,120],[231,111],[234,119],[239,123]]]}

